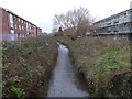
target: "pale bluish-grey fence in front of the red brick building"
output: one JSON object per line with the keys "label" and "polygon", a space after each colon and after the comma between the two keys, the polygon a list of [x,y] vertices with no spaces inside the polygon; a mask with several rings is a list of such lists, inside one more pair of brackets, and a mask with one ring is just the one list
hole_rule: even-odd
{"label": "pale bluish-grey fence in front of the red brick building", "polygon": [[0,33],[0,41],[16,41],[18,34],[2,34]]}

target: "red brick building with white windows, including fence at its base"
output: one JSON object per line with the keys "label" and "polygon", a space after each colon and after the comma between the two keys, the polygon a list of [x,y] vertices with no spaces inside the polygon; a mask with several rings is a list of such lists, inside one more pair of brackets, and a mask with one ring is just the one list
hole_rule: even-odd
{"label": "red brick building with white windows, including fence at its base", "polygon": [[24,20],[15,13],[0,8],[0,37],[2,40],[18,40],[41,35],[42,29]]}

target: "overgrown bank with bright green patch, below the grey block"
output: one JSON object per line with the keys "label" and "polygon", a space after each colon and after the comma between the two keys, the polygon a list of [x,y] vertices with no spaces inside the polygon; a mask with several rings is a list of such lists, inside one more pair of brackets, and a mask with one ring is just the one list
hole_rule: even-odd
{"label": "overgrown bank with bright green patch, below the grey block", "polygon": [[80,37],[68,42],[70,57],[92,97],[132,97],[130,42]]}

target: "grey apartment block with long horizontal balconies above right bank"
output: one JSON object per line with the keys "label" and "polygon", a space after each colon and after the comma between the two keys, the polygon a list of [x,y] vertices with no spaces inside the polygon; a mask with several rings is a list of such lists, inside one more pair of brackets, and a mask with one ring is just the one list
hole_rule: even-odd
{"label": "grey apartment block with long horizontal balconies above right bank", "polygon": [[132,9],[113,14],[95,23],[95,34],[128,36],[132,33]]}

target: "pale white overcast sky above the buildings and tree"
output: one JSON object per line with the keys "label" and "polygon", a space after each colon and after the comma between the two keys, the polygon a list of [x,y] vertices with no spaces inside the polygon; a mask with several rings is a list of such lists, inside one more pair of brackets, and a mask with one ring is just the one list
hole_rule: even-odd
{"label": "pale white overcast sky above the buildings and tree", "polygon": [[0,0],[7,8],[25,20],[51,32],[54,14],[65,13],[73,8],[85,7],[96,21],[130,9],[132,0]]}

